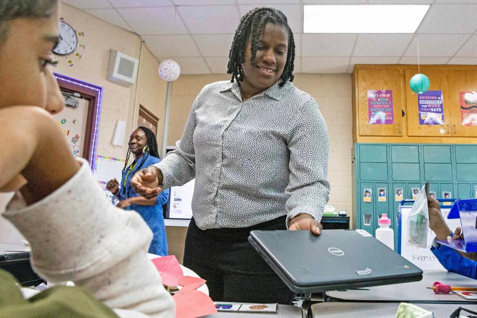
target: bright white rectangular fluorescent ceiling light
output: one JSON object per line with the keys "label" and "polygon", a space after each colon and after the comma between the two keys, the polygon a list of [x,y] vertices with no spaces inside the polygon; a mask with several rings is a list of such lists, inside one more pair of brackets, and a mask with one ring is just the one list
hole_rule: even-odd
{"label": "bright white rectangular fluorescent ceiling light", "polygon": [[305,5],[305,33],[414,33],[430,5]]}

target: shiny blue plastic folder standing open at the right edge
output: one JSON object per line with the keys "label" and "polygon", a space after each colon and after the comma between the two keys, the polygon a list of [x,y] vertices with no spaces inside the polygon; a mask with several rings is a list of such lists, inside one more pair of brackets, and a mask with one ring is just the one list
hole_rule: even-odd
{"label": "shiny blue plastic folder standing open at the right edge", "polygon": [[463,251],[477,252],[477,199],[456,200],[447,216],[448,219],[461,219],[464,239],[438,240],[442,245]]}

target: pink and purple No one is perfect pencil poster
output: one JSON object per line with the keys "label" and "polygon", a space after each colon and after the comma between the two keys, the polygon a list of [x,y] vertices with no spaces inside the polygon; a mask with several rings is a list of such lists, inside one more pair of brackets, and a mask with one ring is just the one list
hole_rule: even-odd
{"label": "pink and purple No one is perfect pencil poster", "polygon": [[393,91],[368,90],[368,112],[370,125],[394,124]]}

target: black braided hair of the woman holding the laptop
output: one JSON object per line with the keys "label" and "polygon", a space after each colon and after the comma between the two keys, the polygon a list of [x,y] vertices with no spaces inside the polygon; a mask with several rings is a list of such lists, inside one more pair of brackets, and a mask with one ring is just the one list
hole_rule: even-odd
{"label": "black braided hair of the woman holding the laptop", "polygon": [[280,76],[282,80],[280,87],[285,85],[287,80],[293,81],[293,69],[295,68],[295,40],[293,38],[292,30],[288,25],[287,17],[282,11],[274,9],[269,6],[262,6],[248,11],[240,19],[239,26],[235,31],[234,41],[229,53],[228,74],[232,74],[231,82],[237,80],[243,81],[242,63],[245,57],[245,49],[247,47],[248,38],[250,38],[250,63],[255,64],[255,56],[257,53],[257,43],[263,32],[265,24],[268,22],[283,25],[288,30],[288,54],[287,62],[283,73]]}

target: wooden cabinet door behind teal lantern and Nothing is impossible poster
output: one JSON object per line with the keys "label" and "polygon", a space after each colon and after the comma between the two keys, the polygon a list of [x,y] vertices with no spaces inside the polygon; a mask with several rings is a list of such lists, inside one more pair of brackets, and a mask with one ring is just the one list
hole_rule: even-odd
{"label": "wooden cabinet door behind teal lantern and Nothing is impossible poster", "polygon": [[406,102],[407,102],[407,135],[408,136],[450,136],[451,117],[449,108],[449,96],[444,69],[429,69],[421,67],[421,74],[425,74],[431,86],[429,90],[441,90],[444,106],[444,125],[419,125],[420,113],[418,111],[418,94],[411,90],[409,80],[417,74],[418,69],[406,69]]}

